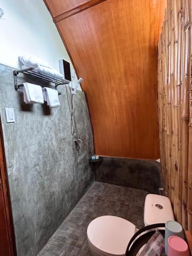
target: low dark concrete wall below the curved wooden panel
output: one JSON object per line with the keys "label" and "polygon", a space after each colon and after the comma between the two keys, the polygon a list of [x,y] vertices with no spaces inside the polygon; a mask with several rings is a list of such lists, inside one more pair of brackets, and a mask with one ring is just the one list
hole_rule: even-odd
{"label": "low dark concrete wall below the curved wooden panel", "polygon": [[161,165],[157,161],[121,157],[103,157],[94,163],[96,181],[147,190],[159,193],[162,187]]}

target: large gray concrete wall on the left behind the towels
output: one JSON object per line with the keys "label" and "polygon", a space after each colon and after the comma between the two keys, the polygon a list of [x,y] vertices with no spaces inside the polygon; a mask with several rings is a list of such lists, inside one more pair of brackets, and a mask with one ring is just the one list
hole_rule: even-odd
{"label": "large gray concrete wall on the left behind the towels", "polygon": [[[75,114],[83,144],[77,151],[65,86],[58,87],[60,108],[27,105],[23,91],[14,89],[12,72],[0,65],[0,115],[17,253],[34,256],[94,179],[92,129],[86,98],[78,91]],[[42,85],[27,76],[18,80],[24,81]],[[15,123],[6,123],[5,108],[14,108]]]}

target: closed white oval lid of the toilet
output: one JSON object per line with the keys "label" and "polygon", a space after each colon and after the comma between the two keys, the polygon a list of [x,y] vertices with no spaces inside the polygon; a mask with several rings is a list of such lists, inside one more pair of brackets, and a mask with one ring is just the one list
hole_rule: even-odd
{"label": "closed white oval lid of the toilet", "polygon": [[116,216],[101,216],[88,226],[88,239],[99,250],[112,255],[124,255],[135,225]]}

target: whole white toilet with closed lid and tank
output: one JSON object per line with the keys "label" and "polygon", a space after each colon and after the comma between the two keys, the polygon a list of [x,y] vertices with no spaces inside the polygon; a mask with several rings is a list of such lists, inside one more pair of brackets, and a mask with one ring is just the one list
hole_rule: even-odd
{"label": "whole white toilet with closed lid and tank", "polygon": [[[148,194],[144,205],[145,226],[174,220],[172,205],[167,197]],[[87,230],[88,243],[94,256],[124,256],[126,247],[137,231],[136,226],[116,216],[101,216]]]}

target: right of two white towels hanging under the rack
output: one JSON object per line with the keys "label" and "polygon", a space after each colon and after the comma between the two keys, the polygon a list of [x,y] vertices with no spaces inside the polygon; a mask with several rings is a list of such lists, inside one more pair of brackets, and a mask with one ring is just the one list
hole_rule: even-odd
{"label": "right of two white towels hanging under the rack", "polygon": [[44,87],[44,100],[47,101],[50,108],[60,106],[58,91],[48,87]]}

